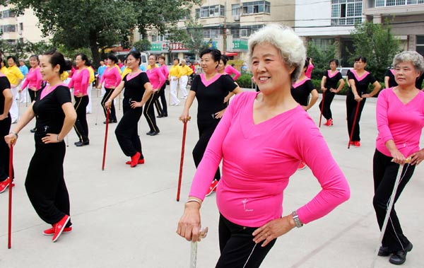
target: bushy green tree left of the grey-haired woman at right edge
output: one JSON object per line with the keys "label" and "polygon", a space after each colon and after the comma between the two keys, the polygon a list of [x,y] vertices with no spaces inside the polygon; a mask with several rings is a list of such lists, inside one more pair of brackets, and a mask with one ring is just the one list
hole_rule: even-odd
{"label": "bushy green tree left of the grey-haired woman at right edge", "polygon": [[367,69],[377,80],[383,81],[384,73],[391,66],[394,55],[401,51],[400,42],[391,33],[389,23],[384,25],[365,22],[355,25],[351,33],[354,52],[352,59],[363,56],[367,59]]}

